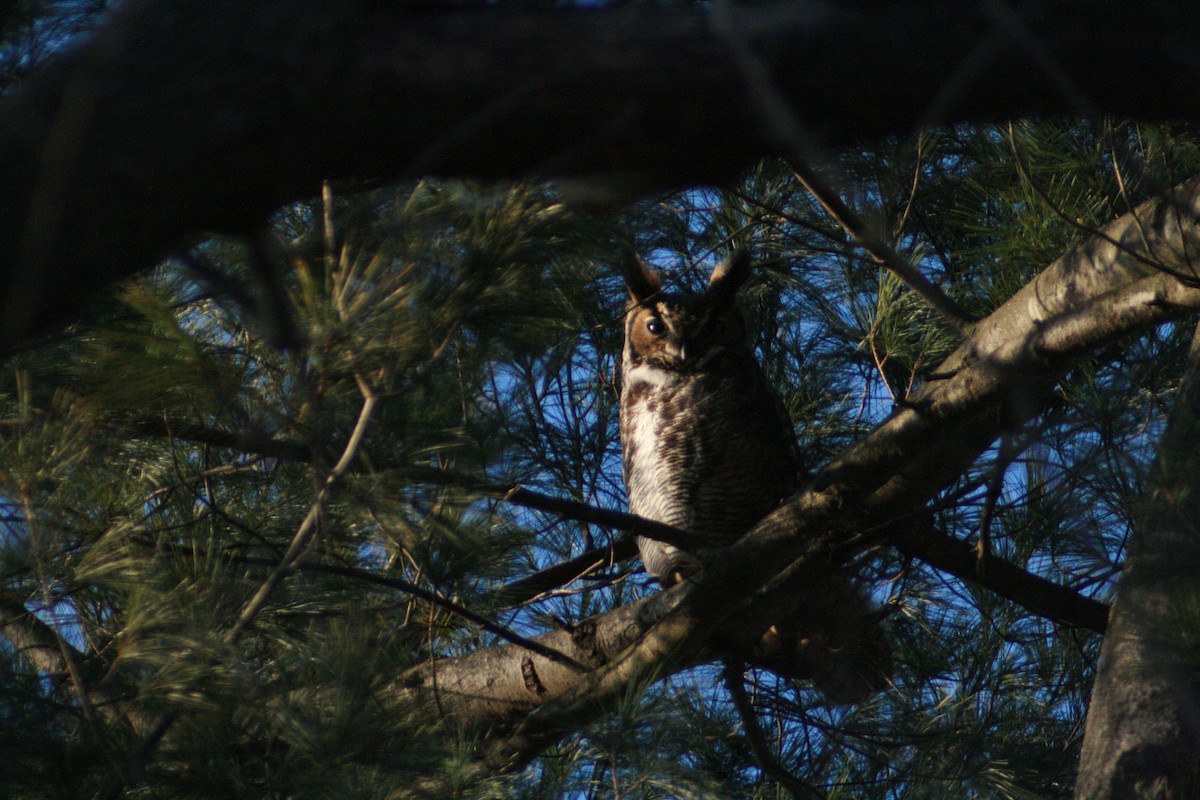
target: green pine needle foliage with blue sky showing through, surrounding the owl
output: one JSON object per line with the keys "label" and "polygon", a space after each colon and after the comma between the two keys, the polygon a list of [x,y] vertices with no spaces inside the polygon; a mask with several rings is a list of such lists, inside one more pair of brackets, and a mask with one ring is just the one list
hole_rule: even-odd
{"label": "green pine needle foliage with blue sky showing through, surrounding the owl", "polygon": [[[1196,162],[1166,127],[1038,122],[827,168],[985,314]],[[830,799],[1069,796],[1098,638],[884,547],[853,567],[892,610],[895,687],[853,709],[750,672],[748,717],[701,667],[480,784],[472,742],[397,708],[390,680],[496,644],[494,626],[528,636],[654,590],[625,563],[515,606],[504,593],[613,539],[503,493],[623,507],[629,247],[684,285],[752,252],[756,348],[814,470],[956,342],[781,162],[605,215],[539,186],[342,187],[280,211],[263,241],[199,245],[0,371],[5,796],[121,781],[137,798],[788,796],[754,732]],[[936,499],[935,527],[974,541],[988,516],[997,555],[1110,599],[1187,336],[1082,365]]]}

